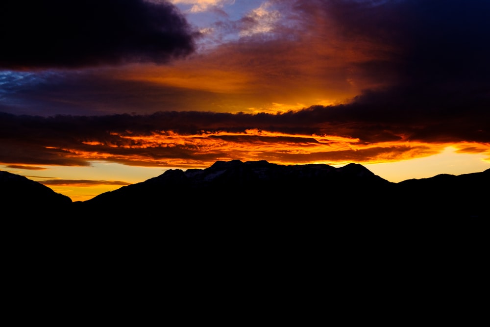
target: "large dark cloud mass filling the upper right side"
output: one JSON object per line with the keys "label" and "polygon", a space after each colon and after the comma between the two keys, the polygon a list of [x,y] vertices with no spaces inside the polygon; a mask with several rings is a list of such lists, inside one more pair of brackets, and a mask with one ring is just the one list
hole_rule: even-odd
{"label": "large dark cloud mass filling the upper right side", "polygon": [[298,125],[317,117],[326,134],[365,142],[490,142],[490,1],[295,4],[311,16],[322,8],[339,38],[368,58],[353,70],[379,85],[349,104],[286,114]]}

